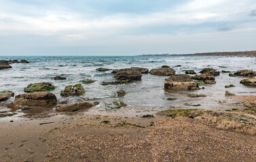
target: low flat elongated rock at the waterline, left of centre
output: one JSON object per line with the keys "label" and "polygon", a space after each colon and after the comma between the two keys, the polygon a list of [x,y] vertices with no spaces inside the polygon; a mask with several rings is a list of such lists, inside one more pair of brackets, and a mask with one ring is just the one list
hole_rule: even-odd
{"label": "low flat elongated rock at the waterline, left of centre", "polygon": [[68,105],[58,105],[56,107],[56,111],[69,111],[69,112],[73,112],[73,111],[78,111],[81,109],[88,109],[90,107],[93,107],[94,105],[98,105],[98,102],[94,102],[94,103],[88,103],[88,102],[84,102],[84,103],[71,103]]}

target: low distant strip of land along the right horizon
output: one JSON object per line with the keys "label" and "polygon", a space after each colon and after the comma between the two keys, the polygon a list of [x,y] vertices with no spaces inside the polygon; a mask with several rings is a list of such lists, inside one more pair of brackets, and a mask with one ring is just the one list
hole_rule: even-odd
{"label": "low distant strip of land along the right horizon", "polygon": [[213,53],[194,53],[194,54],[149,54],[140,56],[246,56],[256,57],[256,51],[234,51],[234,52],[213,52]]}

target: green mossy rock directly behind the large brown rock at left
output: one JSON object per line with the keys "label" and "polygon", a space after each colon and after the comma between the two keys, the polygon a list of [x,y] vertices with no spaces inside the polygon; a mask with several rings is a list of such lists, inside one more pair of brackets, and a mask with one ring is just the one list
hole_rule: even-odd
{"label": "green mossy rock directly behind the large brown rock at left", "polygon": [[49,82],[33,83],[24,88],[24,92],[39,92],[54,90],[55,86]]}

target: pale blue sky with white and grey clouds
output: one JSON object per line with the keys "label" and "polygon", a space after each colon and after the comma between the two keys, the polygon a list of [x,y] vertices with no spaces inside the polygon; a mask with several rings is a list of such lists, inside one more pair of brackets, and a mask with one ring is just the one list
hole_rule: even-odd
{"label": "pale blue sky with white and grey clouds", "polygon": [[255,0],[0,0],[0,55],[253,50]]}

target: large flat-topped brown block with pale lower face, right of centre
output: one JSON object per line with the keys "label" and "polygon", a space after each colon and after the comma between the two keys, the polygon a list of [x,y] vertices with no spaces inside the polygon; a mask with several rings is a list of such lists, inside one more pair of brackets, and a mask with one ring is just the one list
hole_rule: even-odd
{"label": "large flat-topped brown block with pale lower face, right of centre", "polygon": [[195,90],[198,89],[198,84],[187,74],[175,74],[165,80],[164,88],[170,90]]}

